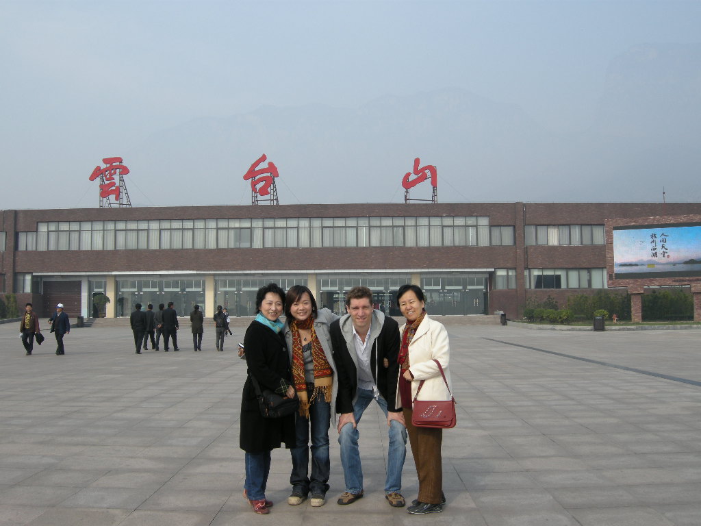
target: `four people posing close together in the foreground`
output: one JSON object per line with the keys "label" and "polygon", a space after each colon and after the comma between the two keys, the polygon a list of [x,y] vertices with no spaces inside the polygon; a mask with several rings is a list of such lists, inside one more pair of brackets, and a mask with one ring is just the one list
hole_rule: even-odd
{"label": "four people posing close together in the foreground", "polygon": [[[332,421],[337,422],[346,486],[336,502],[347,506],[361,499],[365,488],[358,425],[373,400],[388,426],[384,485],[388,504],[406,505],[401,489],[408,435],[419,487],[407,511],[419,515],[443,511],[442,429],[414,427],[411,416],[422,380],[425,385],[418,399],[451,399],[448,335],[426,314],[423,291],[417,285],[402,285],[397,306],[407,320],[401,327],[374,309],[372,290],[366,287],[348,291],[346,314],[340,318],[318,309],[304,285],[294,285],[287,293],[275,283],[258,290],[257,316],[244,337],[248,377],[241,397],[239,440],[245,452],[243,494],[255,513],[265,515],[273,506],[266,499],[271,450],[283,443],[292,456],[287,504],[296,506],[308,498],[313,507],[325,504]],[[435,360],[443,368],[445,383]],[[299,410],[289,417],[263,417],[251,377],[261,389],[286,398],[297,396]]]}

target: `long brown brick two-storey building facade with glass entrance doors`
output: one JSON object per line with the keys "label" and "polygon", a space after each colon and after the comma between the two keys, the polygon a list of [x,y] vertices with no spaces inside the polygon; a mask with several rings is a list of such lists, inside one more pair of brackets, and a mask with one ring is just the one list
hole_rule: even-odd
{"label": "long brown brick two-storey building facade with glass entrance doors", "polygon": [[521,316],[526,299],[606,288],[606,220],[701,214],[697,203],[421,203],[0,211],[0,293],[71,316],[136,303],[254,315],[256,290],[307,285],[341,313],[355,285],[398,315],[415,283],[435,315]]}

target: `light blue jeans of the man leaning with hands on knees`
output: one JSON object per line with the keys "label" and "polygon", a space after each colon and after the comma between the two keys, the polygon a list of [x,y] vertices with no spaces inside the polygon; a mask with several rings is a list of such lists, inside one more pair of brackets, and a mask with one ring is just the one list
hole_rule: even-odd
{"label": "light blue jeans of the man leaning with hands on knees", "polygon": [[[358,400],[353,405],[353,417],[355,423],[360,424],[360,417],[372,402],[372,391],[358,389]],[[381,396],[377,397],[377,403],[387,416],[387,402]],[[360,493],[362,490],[362,466],[360,465],[360,450],[358,449],[358,428],[353,429],[352,424],[346,424],[339,434],[341,445],[341,465],[343,466],[343,478],[346,480],[346,491]],[[390,445],[387,453],[387,478],[385,480],[385,493],[399,492],[402,490],[402,468],[407,457],[407,428],[399,422],[392,420],[389,427]]]}

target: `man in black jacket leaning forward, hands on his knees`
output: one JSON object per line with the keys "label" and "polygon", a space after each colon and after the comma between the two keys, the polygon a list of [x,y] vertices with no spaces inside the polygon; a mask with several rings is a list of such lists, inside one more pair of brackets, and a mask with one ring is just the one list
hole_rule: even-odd
{"label": "man in black jacket leaning forward, hands on his knees", "polygon": [[351,504],[363,496],[362,466],[358,448],[358,422],[376,400],[387,417],[389,448],[385,498],[390,506],[404,506],[402,468],[407,455],[407,429],[402,409],[395,407],[400,350],[399,325],[372,307],[372,290],[354,287],[346,295],[348,314],[331,324],[331,342],[338,370],[339,444],[346,492],[338,504]]}

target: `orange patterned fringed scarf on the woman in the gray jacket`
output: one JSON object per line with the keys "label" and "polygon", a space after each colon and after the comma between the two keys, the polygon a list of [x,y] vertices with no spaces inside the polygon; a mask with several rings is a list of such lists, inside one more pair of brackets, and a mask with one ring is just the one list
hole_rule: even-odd
{"label": "orange patterned fringed scarf on the woman in the gray jacket", "polygon": [[[306,391],[306,379],[304,377],[304,350],[299,329],[311,330],[311,358],[314,363],[314,390],[311,398]],[[304,321],[293,320],[290,322],[292,331],[292,382],[297,389],[299,397],[299,414],[309,418],[309,405],[317,396],[323,396],[327,402],[331,401],[331,386],[334,372],[326,359],[321,342],[314,330],[314,318],[309,316]]]}

